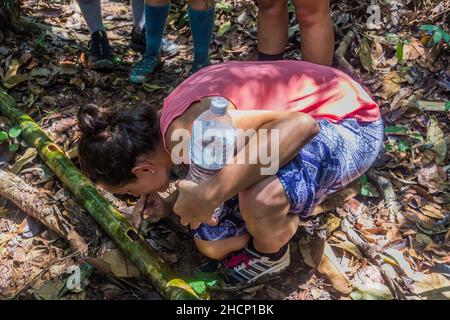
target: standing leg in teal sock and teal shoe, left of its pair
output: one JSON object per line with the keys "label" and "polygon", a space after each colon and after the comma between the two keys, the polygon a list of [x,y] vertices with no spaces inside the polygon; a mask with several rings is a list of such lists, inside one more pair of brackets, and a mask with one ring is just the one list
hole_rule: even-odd
{"label": "standing leg in teal sock and teal shoe, left of its pair", "polygon": [[150,79],[160,66],[161,41],[170,11],[170,0],[145,1],[146,51],[142,60],[133,68],[131,82],[143,83]]}

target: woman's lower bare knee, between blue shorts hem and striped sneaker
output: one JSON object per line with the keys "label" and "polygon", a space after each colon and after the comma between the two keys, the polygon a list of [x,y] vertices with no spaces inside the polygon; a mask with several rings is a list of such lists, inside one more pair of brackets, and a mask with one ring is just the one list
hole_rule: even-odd
{"label": "woman's lower bare knee, between blue shorts hem and striped sneaker", "polygon": [[249,238],[250,235],[244,234],[216,241],[194,239],[194,242],[198,251],[204,256],[214,260],[222,260],[231,252],[244,248]]}

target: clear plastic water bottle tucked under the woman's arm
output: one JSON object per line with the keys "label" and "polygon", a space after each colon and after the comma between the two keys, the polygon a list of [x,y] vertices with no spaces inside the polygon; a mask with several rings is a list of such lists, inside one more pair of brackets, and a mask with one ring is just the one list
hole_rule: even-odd
{"label": "clear plastic water bottle tucked under the woman's arm", "polygon": [[[195,183],[207,180],[233,159],[236,145],[236,128],[227,112],[228,100],[211,99],[209,110],[195,119],[190,145],[190,167],[187,180]],[[219,219],[223,203],[214,210]]]}

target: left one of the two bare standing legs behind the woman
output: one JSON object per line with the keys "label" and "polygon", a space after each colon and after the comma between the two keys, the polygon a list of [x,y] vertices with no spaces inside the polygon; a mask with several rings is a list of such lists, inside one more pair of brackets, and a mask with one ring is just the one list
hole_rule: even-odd
{"label": "left one of the two bare standing legs behind the woman", "polygon": [[288,18],[287,0],[258,0],[258,60],[283,59]]}

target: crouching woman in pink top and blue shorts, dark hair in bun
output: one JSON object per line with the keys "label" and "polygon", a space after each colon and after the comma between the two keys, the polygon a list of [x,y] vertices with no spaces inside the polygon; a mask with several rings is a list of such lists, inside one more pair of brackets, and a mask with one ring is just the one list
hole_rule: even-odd
{"label": "crouching woman in pink top and blue shorts, dark hair in bun", "polygon": [[[174,164],[190,162],[189,155],[174,154],[175,133],[190,132],[215,96],[227,99],[237,129],[278,131],[277,141],[270,134],[251,136],[235,157],[248,159],[250,152],[278,143],[279,169],[265,175],[261,161],[231,161],[199,184],[179,181],[161,199],[157,192],[168,188]],[[181,83],[161,112],[87,105],[80,109],[79,126],[80,161],[88,177],[113,193],[146,195],[149,214],[173,210],[189,225],[198,250],[217,261],[203,270],[228,269],[228,289],[284,271],[299,219],[362,175],[383,141],[379,108],[358,83],[339,70],[299,61],[209,66]]]}

